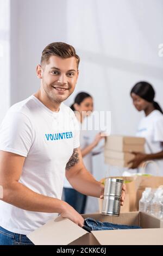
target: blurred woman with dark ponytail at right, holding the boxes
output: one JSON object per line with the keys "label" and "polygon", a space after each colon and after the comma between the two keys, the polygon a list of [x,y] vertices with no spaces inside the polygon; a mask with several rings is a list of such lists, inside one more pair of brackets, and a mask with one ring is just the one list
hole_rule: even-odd
{"label": "blurred woman with dark ponytail at right, holding the boxes", "polygon": [[[159,103],[154,101],[154,88],[150,83],[141,81],[131,89],[130,95],[137,111],[145,114],[136,136],[146,139],[145,153],[134,153],[134,160],[129,162],[133,164],[131,168],[137,168],[144,161],[154,160],[158,164],[159,175],[163,175],[163,112]],[[149,167],[147,172],[156,174],[152,171],[156,167],[153,164],[149,164]]]}

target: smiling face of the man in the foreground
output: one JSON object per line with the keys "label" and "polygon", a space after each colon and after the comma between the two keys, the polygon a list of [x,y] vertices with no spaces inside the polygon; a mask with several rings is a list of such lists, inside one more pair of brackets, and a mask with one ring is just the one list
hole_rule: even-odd
{"label": "smiling face of the man in the foreground", "polygon": [[51,56],[37,68],[42,79],[41,87],[48,99],[61,103],[74,91],[78,79],[77,59]]}

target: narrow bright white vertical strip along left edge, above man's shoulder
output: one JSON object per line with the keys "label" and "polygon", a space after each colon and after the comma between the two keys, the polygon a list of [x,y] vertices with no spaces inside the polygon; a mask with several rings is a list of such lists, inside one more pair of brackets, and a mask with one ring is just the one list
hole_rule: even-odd
{"label": "narrow bright white vertical strip along left edge, above man's shoulder", "polygon": [[0,123],[10,103],[10,0],[0,0]]}

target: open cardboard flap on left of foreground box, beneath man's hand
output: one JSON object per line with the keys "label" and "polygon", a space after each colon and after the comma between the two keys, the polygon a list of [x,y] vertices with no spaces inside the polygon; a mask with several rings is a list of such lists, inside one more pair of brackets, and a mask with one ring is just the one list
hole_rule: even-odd
{"label": "open cardboard flap on left of foreground box, beneath man's hand", "polygon": [[34,245],[68,245],[88,232],[61,216],[34,230],[27,237]]}

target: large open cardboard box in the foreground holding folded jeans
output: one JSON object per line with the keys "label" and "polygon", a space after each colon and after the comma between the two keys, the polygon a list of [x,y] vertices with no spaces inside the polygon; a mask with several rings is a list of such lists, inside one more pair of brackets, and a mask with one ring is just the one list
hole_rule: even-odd
{"label": "large open cardboard box in the foreground holding folded jeans", "polygon": [[58,217],[27,237],[35,245],[163,245],[163,221],[145,212],[126,212],[117,216],[89,214],[94,220],[140,225],[143,229],[91,231]]}

